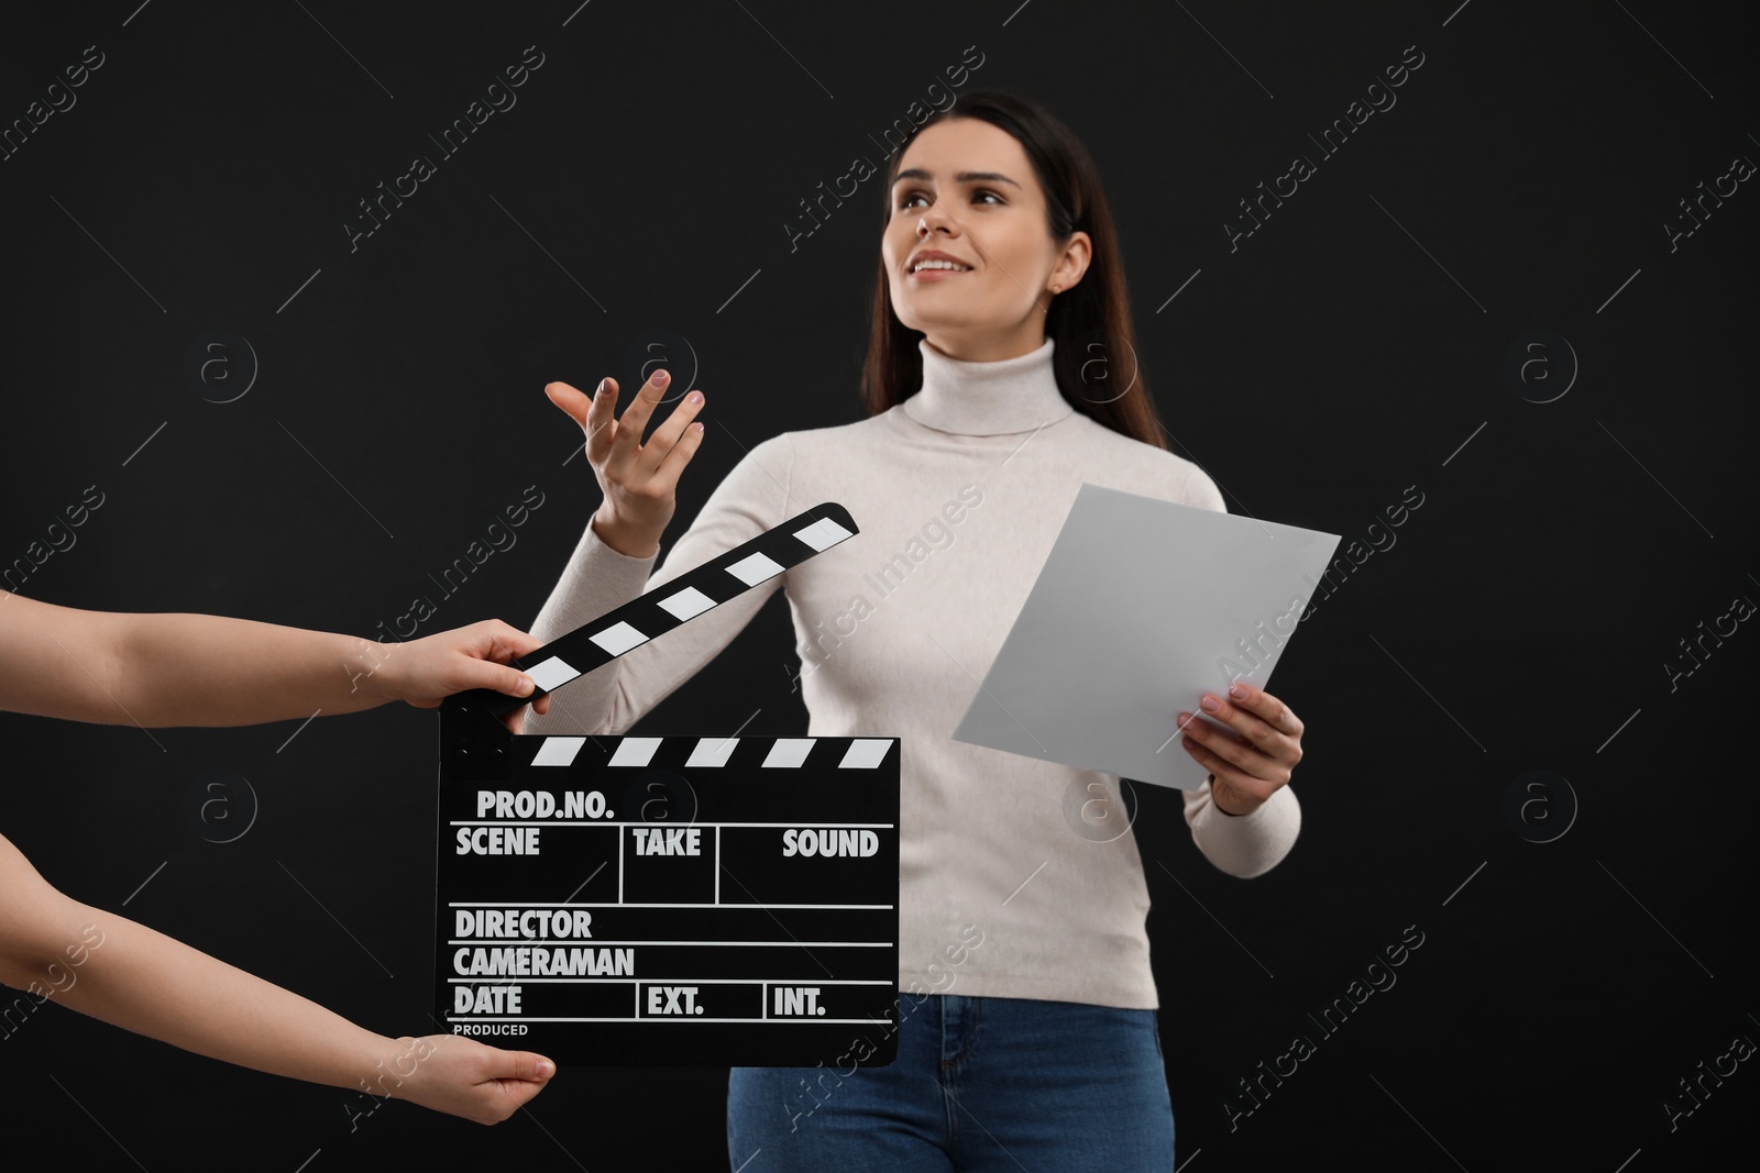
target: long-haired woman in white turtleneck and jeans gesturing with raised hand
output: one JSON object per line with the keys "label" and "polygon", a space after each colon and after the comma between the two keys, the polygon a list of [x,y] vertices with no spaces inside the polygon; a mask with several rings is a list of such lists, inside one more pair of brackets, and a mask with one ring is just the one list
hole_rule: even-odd
{"label": "long-haired woman in white turtleneck and jeans gesturing with raised hand", "polygon": [[[1223,510],[1162,441],[1142,380],[1084,394],[1089,343],[1130,346],[1100,183],[1054,118],[972,93],[892,158],[864,369],[869,419],[766,440],[715,489],[649,579],[674,489],[702,441],[692,392],[655,429],[656,373],[614,420],[546,390],[588,433],[604,503],[533,624],[604,614],[818,501],[848,506],[838,545],[667,640],[558,693],[535,732],[621,732],[727,645],[781,587],[815,735],[903,744],[898,1060],[734,1069],[729,1157],[759,1169],[1172,1168],[1142,862],[1065,818],[1098,777],[950,739],[1044,565],[1077,487]],[[920,269],[924,259],[942,264]],[[1287,788],[1302,723],[1236,686],[1204,696],[1232,733],[1177,712],[1211,777],[1186,797],[1220,869],[1257,876],[1301,825]],[[1170,712],[1200,698],[1169,698]],[[1170,730],[1172,732],[1172,730]],[[1118,779],[1105,777],[1118,800]],[[1077,802],[1077,807],[1081,804]]]}

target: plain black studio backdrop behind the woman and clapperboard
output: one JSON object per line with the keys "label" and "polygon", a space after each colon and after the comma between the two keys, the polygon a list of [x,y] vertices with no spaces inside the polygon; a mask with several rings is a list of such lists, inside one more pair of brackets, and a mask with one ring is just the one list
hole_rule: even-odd
{"label": "plain black studio backdrop behind the woman and clapperboard", "polygon": [[[880,164],[869,134],[977,46],[963,91],[1044,102],[1093,151],[1174,450],[1230,512],[1350,540],[1424,492],[1274,681],[1308,725],[1294,853],[1223,876],[1179,795],[1139,788],[1179,1159],[1642,1173],[1748,1141],[1753,1062],[1674,1131],[1661,1099],[1760,1039],[1741,700],[1760,635],[1674,691],[1663,668],[1760,598],[1735,471],[1760,197],[1742,185],[1674,250],[1665,229],[1760,158],[1751,5],[136,2],[0,30],[7,125],[106,55],[0,164],[0,559],[104,492],[26,594],[370,635],[539,485],[517,545],[424,631],[528,624],[598,501],[547,380],[634,387],[648,332],[688,339],[715,422],[672,533],[744,447],[861,417],[882,193],[794,251],[785,225],[852,157]],[[544,65],[517,106],[440,158],[426,135],[526,46]],[[1308,135],[1406,46],[1426,60],[1397,106],[1318,160]],[[350,251],[357,200],[417,153],[436,174]],[[1230,251],[1237,200],[1297,153],[1318,172]],[[255,350],[241,399],[187,382],[206,331]],[[1551,403],[1503,376],[1531,331],[1580,362]],[[1563,378],[1556,345],[1547,362]],[[790,649],[778,600],[634,732],[753,709],[748,735],[804,732]],[[5,835],[63,892],[424,1031],[433,714],[0,728]],[[234,842],[185,816],[209,769],[260,800]],[[1561,788],[1505,816],[1535,769],[1580,804],[1544,844],[1517,832],[1561,818]],[[1397,985],[1230,1129],[1236,1080],[1408,925]],[[495,1129],[391,1103],[350,1131],[347,1092],[53,1002],[0,1055],[9,1141],[77,1168],[727,1168],[723,1069],[565,1069]]]}

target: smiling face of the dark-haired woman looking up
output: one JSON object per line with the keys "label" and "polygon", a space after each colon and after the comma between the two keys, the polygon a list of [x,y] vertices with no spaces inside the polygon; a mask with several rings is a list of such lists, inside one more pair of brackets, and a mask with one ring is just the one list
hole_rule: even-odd
{"label": "smiling face of the dark-haired woman looking up", "polygon": [[[968,362],[1044,345],[1049,290],[1081,280],[1089,237],[1051,237],[1045,193],[1012,134],[977,118],[926,127],[905,148],[891,199],[880,257],[899,322]],[[913,271],[928,250],[964,269]]]}

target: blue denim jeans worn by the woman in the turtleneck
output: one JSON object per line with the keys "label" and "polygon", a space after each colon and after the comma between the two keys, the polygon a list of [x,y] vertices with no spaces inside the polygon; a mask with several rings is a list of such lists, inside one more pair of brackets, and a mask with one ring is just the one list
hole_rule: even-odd
{"label": "blue denim jeans worn by the woman in the turtleneck", "polygon": [[[1169,1173],[1174,1113],[1153,1009],[905,994],[898,1060],[734,1067],[741,1173]],[[891,1024],[866,1031],[880,1043]],[[852,1039],[864,1034],[850,1027]],[[855,1052],[868,1053],[868,1052]]]}

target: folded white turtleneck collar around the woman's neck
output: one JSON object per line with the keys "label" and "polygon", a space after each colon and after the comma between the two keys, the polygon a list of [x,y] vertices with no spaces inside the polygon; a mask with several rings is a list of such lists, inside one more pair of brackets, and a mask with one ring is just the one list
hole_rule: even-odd
{"label": "folded white turtleneck collar around the woman's neck", "polygon": [[917,339],[922,389],[899,404],[912,420],[959,436],[1007,436],[1052,424],[1075,410],[1058,390],[1052,339],[996,362],[949,359]]}

